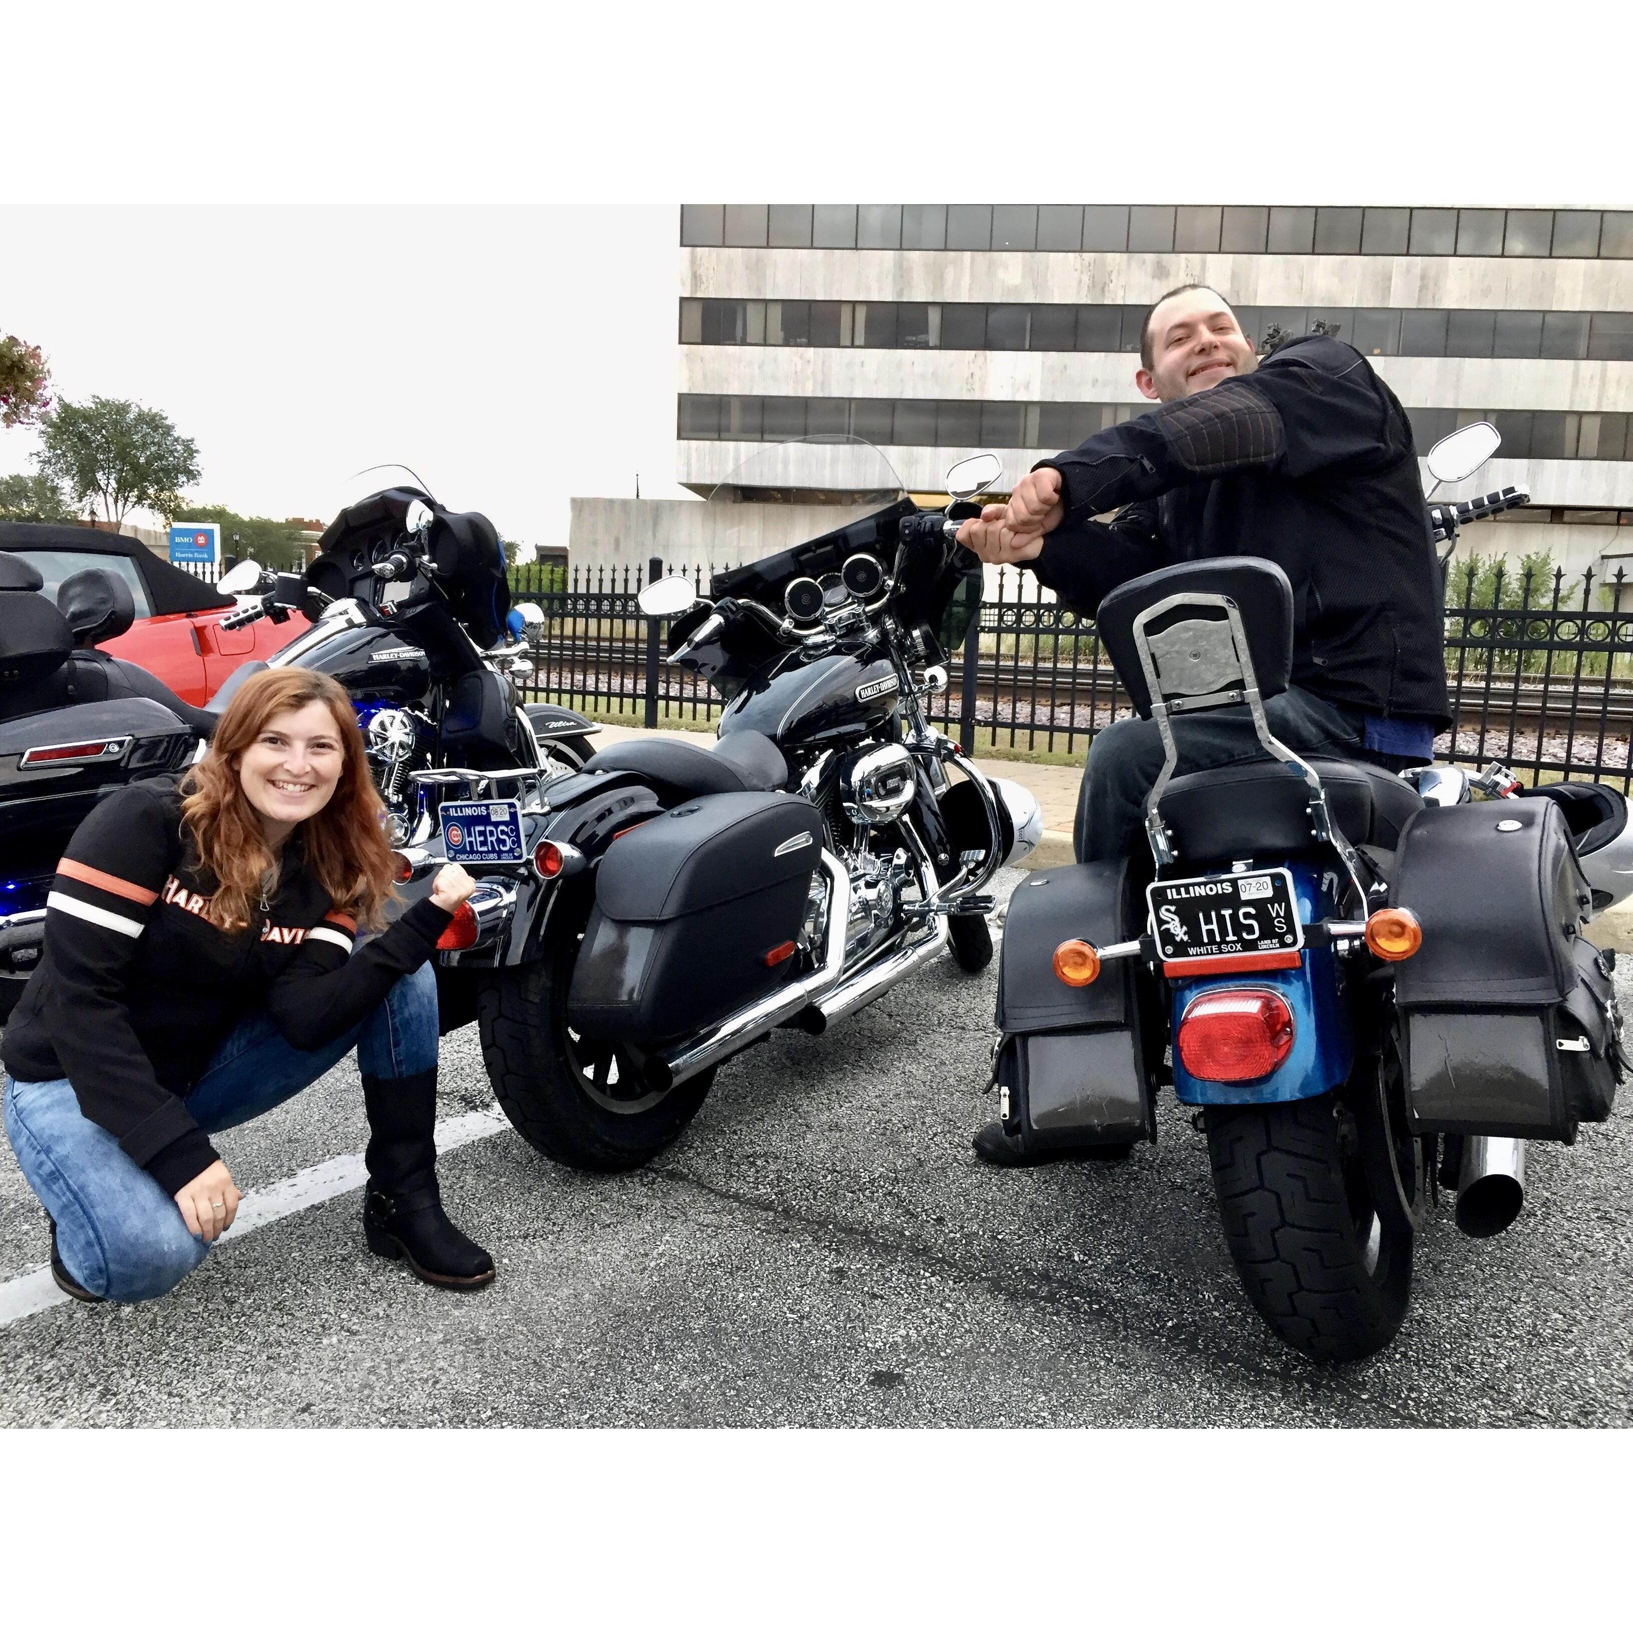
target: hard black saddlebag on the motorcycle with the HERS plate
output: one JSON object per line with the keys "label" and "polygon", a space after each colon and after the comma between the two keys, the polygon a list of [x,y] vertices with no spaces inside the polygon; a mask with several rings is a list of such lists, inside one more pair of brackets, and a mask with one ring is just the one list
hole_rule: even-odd
{"label": "hard black saddlebag on the motorcycle with the HERS plate", "polygon": [[573,968],[572,1026],[652,1048],[785,986],[820,854],[821,816],[792,794],[709,794],[616,839]]}

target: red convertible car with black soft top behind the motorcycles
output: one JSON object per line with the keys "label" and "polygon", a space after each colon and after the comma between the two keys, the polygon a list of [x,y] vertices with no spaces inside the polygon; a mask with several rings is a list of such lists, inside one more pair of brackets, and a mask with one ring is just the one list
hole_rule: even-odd
{"label": "red convertible car with black soft top behind the motorcycles", "polygon": [[52,601],[62,580],[87,567],[122,578],[136,601],[136,622],[114,640],[100,642],[101,650],[139,663],[189,704],[207,704],[240,663],[269,658],[310,627],[291,612],[286,624],[258,619],[243,629],[222,629],[222,617],[237,606],[232,596],[116,532],[7,521],[0,523],[0,550],[38,568]]}

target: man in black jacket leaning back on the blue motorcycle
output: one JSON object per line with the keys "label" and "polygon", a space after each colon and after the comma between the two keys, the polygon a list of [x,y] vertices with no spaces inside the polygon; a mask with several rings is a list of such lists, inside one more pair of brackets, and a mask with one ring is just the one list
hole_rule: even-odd
{"label": "man in black jacket leaning back on the blue motorcycle", "polygon": [[[1008,505],[959,531],[983,562],[1024,563],[1092,612],[1107,591],[1172,562],[1259,555],[1293,586],[1293,684],[1266,704],[1280,741],[1399,768],[1450,723],[1440,578],[1406,412],[1352,346],[1328,335],[1259,359],[1205,284],[1146,314],[1135,384],[1163,407],[1040,461]],[[1096,521],[1117,511],[1109,523]],[[1174,722],[1179,771],[1261,753],[1244,709]],[[1092,743],[1078,795],[1078,861],[1135,843],[1163,766],[1150,720]],[[985,1161],[1024,1161],[1001,1124]]]}

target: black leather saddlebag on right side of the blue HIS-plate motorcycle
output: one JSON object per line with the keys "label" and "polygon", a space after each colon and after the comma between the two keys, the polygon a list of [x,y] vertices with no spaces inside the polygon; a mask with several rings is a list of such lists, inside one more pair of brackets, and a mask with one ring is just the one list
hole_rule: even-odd
{"label": "black leather saddlebag on right side of the blue HIS-plate motorcycle", "polygon": [[1401,838],[1390,900],[1424,932],[1395,975],[1417,1127],[1569,1141],[1604,1122],[1622,1021],[1609,960],[1579,934],[1591,892],[1560,807],[1427,807]]}

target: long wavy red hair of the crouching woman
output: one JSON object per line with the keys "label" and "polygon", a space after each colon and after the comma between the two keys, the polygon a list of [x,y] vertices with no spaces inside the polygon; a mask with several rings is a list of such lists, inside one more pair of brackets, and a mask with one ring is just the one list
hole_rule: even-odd
{"label": "long wavy red hair of the crouching woman", "polygon": [[216,875],[216,895],[204,913],[219,929],[248,926],[250,903],[274,865],[260,818],[238,781],[240,756],[273,715],[307,704],[328,707],[345,758],[330,802],[297,830],[307,872],[336,908],[361,924],[380,923],[395,864],[358,717],[338,681],[314,670],[289,668],[263,670],[238,687],[216,727],[209,753],[181,784],[183,826],[199,864]]}

